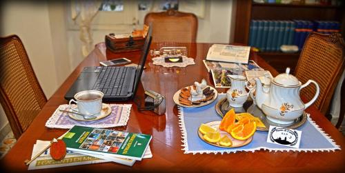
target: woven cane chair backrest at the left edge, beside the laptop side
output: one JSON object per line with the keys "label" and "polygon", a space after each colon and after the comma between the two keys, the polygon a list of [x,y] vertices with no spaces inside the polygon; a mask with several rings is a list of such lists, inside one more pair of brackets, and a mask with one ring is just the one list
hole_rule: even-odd
{"label": "woven cane chair backrest at the left edge, beside the laptop side", "polygon": [[17,35],[0,38],[0,102],[18,139],[47,99]]}

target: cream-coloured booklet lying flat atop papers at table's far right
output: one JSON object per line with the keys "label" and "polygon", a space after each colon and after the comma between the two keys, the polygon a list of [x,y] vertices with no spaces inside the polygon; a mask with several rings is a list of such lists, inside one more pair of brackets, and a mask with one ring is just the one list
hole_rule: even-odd
{"label": "cream-coloured booklet lying flat atop papers at table's far right", "polygon": [[228,63],[248,63],[250,46],[213,44],[207,53],[206,60]]}

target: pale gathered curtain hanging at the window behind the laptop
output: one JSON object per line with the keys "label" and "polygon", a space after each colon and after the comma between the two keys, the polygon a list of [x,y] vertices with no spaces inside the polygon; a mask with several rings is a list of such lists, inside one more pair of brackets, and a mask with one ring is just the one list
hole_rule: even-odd
{"label": "pale gathered curtain hanging at the window behind the laptop", "polygon": [[100,0],[74,0],[71,2],[72,19],[79,21],[79,38],[82,42],[81,52],[84,57],[93,49],[92,33],[90,30],[92,19],[96,16]]}

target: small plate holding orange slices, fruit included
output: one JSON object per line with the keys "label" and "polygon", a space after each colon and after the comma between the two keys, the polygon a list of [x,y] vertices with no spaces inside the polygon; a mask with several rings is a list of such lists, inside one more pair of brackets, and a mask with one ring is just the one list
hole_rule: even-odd
{"label": "small plate holding orange slices, fruit included", "polygon": [[211,121],[199,126],[199,138],[217,147],[242,147],[253,141],[255,121],[241,119],[235,122],[235,111],[230,110],[222,121]]}

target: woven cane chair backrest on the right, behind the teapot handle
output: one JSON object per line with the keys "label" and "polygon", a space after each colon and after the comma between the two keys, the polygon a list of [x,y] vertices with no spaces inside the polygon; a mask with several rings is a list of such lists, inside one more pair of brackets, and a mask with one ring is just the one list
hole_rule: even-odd
{"label": "woven cane chair backrest on the right, behind the teapot handle", "polygon": [[[319,97],[314,102],[320,112],[326,114],[335,87],[344,70],[344,39],[342,35],[309,34],[300,54],[295,75],[302,83],[312,79],[319,84]],[[301,90],[306,99],[311,100],[315,94],[315,86]]]}

